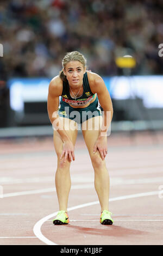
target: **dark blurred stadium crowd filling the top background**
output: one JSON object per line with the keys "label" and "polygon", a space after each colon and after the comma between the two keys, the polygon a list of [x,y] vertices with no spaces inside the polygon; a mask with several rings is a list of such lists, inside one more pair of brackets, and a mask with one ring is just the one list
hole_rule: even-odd
{"label": "dark blurred stadium crowd filling the top background", "polygon": [[162,0],[1,1],[1,80],[54,77],[73,50],[100,75],[117,75],[115,58],[124,54],[135,56],[134,74],[161,74],[162,12]]}

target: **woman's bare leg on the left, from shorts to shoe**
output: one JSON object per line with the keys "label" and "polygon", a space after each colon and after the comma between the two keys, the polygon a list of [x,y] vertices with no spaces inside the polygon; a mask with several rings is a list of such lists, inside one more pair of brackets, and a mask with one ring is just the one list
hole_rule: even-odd
{"label": "woman's bare leg on the left, from shorts to shoe", "polygon": [[[62,118],[62,117],[60,117],[60,120],[62,120],[63,126],[66,127],[67,129],[66,132],[68,136],[70,137],[73,144],[75,145],[78,130],[73,130],[72,126],[73,126],[73,123],[75,126],[76,122],[68,118]],[[72,122],[71,125],[70,125],[70,122]],[[62,157],[62,159],[60,160],[60,155],[62,153],[62,148],[63,148],[63,142],[58,131],[54,131],[53,141],[54,141],[54,148],[58,157],[57,172],[55,173],[55,186],[57,190],[59,210],[67,211],[68,195],[71,188],[70,162],[68,161],[68,157],[66,162],[64,162],[64,157]]]}

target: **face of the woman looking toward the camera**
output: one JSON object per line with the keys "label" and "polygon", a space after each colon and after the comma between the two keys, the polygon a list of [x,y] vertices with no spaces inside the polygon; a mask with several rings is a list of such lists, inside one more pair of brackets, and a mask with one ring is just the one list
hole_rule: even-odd
{"label": "face of the woman looking toward the camera", "polygon": [[86,68],[83,67],[81,62],[72,61],[66,64],[64,74],[70,86],[75,88],[83,84],[83,76],[85,71]]}

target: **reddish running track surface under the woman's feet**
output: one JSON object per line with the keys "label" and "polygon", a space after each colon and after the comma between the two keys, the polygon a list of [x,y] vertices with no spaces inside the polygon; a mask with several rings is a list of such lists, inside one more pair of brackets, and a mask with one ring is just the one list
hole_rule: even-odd
{"label": "reddish running track surface under the woman's feet", "polygon": [[82,135],[71,164],[70,224],[62,226],[48,218],[58,211],[53,138],[1,140],[0,245],[162,245],[162,138],[162,132],[108,138],[111,226],[99,223],[101,208]]}

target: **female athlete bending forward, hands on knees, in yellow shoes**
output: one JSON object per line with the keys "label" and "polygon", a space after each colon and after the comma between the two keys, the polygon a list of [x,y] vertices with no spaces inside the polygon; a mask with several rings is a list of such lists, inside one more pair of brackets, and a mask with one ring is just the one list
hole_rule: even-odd
{"label": "female athlete bending forward, hands on knees, in yellow shoes", "polygon": [[58,157],[55,186],[59,211],[53,223],[69,223],[67,204],[71,188],[70,164],[75,160],[74,145],[80,124],[95,170],[95,190],[101,205],[100,223],[112,224],[109,174],[105,164],[107,131],[113,114],[112,102],[103,79],[86,70],[83,54],[73,51],[62,59],[62,71],[49,83],[47,109]]}

